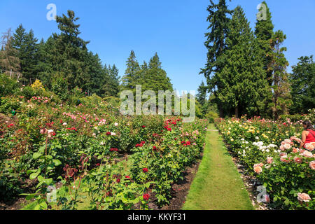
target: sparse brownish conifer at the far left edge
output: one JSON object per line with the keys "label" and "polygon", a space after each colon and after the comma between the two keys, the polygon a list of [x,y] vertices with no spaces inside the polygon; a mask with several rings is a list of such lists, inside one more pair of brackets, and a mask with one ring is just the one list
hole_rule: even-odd
{"label": "sparse brownish conifer at the far left edge", "polygon": [[5,70],[3,73],[20,77],[20,59],[18,50],[12,46],[12,40],[11,29],[8,29],[1,37],[0,66]]}

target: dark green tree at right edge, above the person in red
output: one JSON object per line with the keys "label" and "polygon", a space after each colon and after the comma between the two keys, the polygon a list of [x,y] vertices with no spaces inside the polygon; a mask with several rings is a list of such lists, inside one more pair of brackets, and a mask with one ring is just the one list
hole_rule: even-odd
{"label": "dark green tree at right edge, above the person in red", "polygon": [[290,74],[293,105],[290,113],[307,113],[315,108],[315,63],[313,55],[300,57]]}

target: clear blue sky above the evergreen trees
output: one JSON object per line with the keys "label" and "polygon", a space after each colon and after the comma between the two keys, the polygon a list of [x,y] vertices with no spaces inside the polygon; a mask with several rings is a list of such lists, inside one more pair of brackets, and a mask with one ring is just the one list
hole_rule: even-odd
{"label": "clear blue sky above the evergreen trees", "polygon": [[[216,1],[216,0],[215,0]],[[258,3],[262,0],[228,1],[229,8],[244,8],[251,27],[255,27]],[[97,52],[103,63],[116,64],[120,76],[134,50],[138,61],[158,52],[176,90],[197,90],[199,75],[207,59],[204,33],[207,32],[209,0],[1,0],[0,31],[13,30],[22,23],[33,29],[37,38],[47,39],[58,32],[55,21],[48,21],[48,3],[55,3],[57,15],[71,9],[80,18],[80,35],[90,41],[88,48]],[[315,54],[315,1],[267,0],[275,29],[287,35],[284,46],[290,66],[297,58]],[[288,68],[288,71],[291,71]]]}

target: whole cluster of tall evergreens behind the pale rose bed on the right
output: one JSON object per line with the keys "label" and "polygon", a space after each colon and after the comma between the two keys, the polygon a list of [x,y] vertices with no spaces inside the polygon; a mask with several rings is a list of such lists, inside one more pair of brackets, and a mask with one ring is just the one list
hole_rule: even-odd
{"label": "whole cluster of tall evergreens behind the pale rose bed on the right", "polygon": [[[221,118],[246,114],[278,119],[314,108],[312,57],[301,57],[293,73],[287,73],[286,48],[282,46],[286,35],[274,31],[267,3],[262,2],[266,20],[258,18],[255,31],[241,6],[229,10],[225,0],[210,3],[207,64],[201,73]],[[203,89],[204,84],[199,94],[204,95]]]}

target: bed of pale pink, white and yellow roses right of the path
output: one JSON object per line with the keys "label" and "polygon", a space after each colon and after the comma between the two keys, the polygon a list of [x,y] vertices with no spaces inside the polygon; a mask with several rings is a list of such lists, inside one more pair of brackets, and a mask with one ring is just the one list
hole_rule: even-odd
{"label": "bed of pale pink, white and yellow roses right of the path", "polygon": [[315,208],[314,146],[299,149],[300,123],[260,118],[217,120],[230,150],[260,180],[276,209]]}

